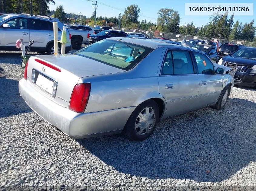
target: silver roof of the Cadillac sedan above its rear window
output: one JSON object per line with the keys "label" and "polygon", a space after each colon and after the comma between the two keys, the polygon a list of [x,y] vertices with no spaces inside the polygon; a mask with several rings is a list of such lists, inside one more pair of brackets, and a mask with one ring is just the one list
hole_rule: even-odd
{"label": "silver roof of the Cadillac sedan above its rear window", "polygon": [[[165,42],[161,42],[159,40],[144,40],[144,39],[126,38],[126,37],[111,37],[111,38],[108,38],[108,39],[118,40],[118,41],[127,42],[127,43],[138,44],[138,45],[146,46],[146,47],[153,48],[153,49],[161,47],[161,46],[169,46],[169,47],[173,47],[173,48],[179,47],[179,48],[182,48],[182,49],[191,50],[191,48],[186,47],[186,46],[180,46],[180,45],[177,45],[177,44],[165,43]],[[195,50],[193,49],[193,51],[195,51]],[[198,51],[198,52],[200,52],[200,51]]]}

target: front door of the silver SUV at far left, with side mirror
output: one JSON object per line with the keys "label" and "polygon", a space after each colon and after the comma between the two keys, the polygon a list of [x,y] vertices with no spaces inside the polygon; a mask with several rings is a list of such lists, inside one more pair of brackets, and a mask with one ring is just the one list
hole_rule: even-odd
{"label": "front door of the silver SUV at far left, with side mirror", "polygon": [[12,18],[5,22],[9,24],[10,28],[3,28],[1,30],[1,45],[12,46],[15,48],[15,43],[18,39],[23,38],[25,46],[29,44],[29,29],[27,18]]}

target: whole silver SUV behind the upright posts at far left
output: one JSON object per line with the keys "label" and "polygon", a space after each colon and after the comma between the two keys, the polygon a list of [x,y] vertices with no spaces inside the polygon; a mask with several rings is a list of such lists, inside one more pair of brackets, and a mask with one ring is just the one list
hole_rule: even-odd
{"label": "whole silver SUV behind the upright posts at far left", "polygon": [[[53,22],[55,20],[42,18],[39,16],[30,16],[28,14],[3,14],[0,16],[0,50],[19,51],[15,42],[23,38],[25,46],[28,46],[30,40],[34,40],[30,51],[38,53],[54,53],[53,43]],[[58,40],[62,35],[64,24],[58,22]],[[71,50],[71,34],[67,30],[66,52]],[[59,53],[61,44],[59,43]]]}

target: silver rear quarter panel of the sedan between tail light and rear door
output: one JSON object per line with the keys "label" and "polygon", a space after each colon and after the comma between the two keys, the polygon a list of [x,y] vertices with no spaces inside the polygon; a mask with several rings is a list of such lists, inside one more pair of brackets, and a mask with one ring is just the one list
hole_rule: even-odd
{"label": "silver rear quarter panel of the sedan between tail light and rear door", "polygon": [[148,54],[126,72],[80,78],[78,83],[91,83],[85,113],[138,106],[151,98],[165,99],[159,94],[158,67],[163,47]]}

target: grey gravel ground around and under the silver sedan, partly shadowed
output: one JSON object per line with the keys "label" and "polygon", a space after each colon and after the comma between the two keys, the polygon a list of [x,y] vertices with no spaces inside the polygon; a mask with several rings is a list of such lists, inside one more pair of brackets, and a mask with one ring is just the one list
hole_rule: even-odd
{"label": "grey gravel ground around and under the silver sedan, partly shadowed", "polygon": [[0,187],[256,186],[256,89],[234,87],[223,110],[165,120],[143,142],[74,140],[19,96],[20,61],[20,53],[0,51]]}

